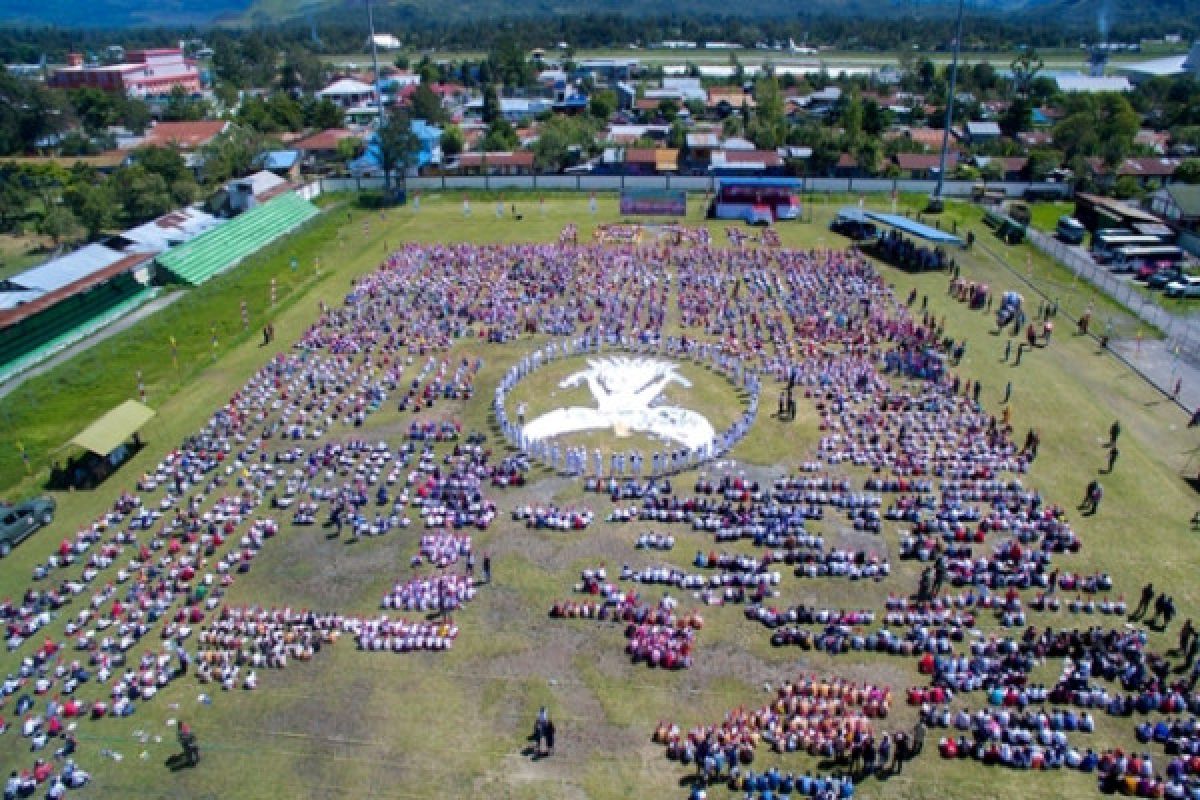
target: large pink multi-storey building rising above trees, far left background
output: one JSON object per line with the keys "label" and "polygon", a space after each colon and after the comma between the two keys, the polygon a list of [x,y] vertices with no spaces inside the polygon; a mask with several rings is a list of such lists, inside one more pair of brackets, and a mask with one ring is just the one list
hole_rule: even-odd
{"label": "large pink multi-storey building rising above trees, far left background", "polygon": [[200,71],[179,48],[131,50],[125,64],[96,67],[84,66],[83,56],[72,53],[67,66],[55,70],[48,83],[55,89],[90,88],[131,97],[156,97],[169,95],[175,86],[187,94],[200,91]]}

